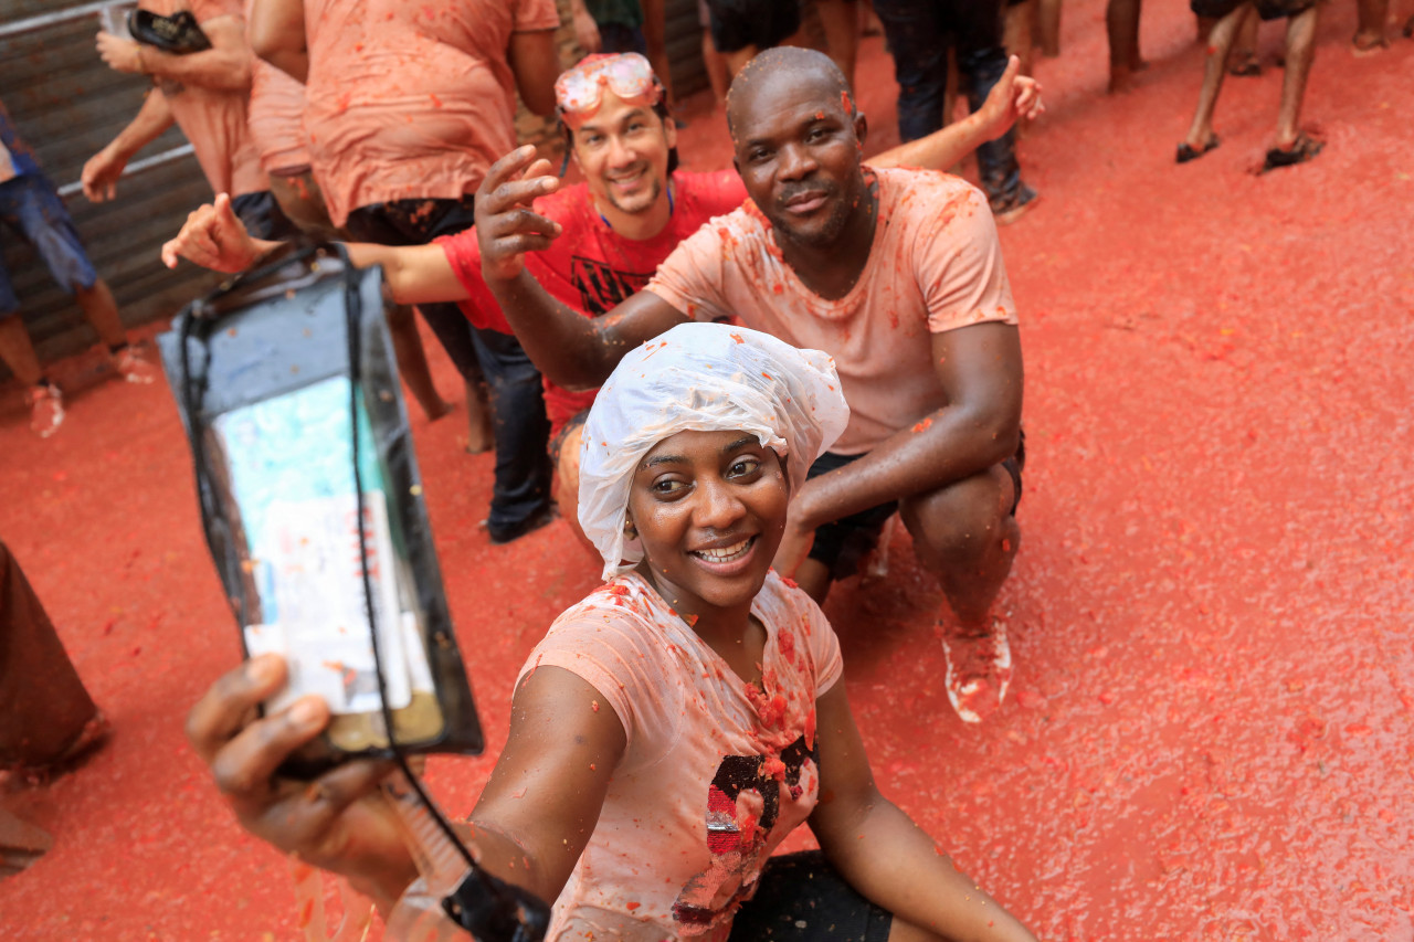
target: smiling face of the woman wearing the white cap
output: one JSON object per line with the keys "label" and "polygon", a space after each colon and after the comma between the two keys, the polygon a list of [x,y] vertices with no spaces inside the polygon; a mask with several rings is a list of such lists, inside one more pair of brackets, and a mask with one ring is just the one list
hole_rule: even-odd
{"label": "smiling face of the woman wearing the white cap", "polygon": [[628,519],[641,571],[682,615],[749,612],[786,526],[776,453],[741,431],[679,431],[639,463]]}

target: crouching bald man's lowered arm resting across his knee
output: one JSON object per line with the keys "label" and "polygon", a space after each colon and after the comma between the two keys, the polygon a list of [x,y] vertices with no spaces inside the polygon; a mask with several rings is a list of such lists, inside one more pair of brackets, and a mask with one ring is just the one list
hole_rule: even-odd
{"label": "crouching bald man's lowered arm resting across his knee", "polygon": [[793,528],[813,530],[935,491],[1015,454],[1022,396],[1017,327],[993,321],[933,334],[933,361],[949,405],[858,461],[812,478],[790,508]]}

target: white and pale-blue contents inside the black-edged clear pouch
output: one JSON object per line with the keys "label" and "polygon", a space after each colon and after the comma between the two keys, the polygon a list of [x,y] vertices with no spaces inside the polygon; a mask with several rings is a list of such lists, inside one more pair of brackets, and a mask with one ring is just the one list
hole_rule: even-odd
{"label": "white and pale-blue contents inside the black-edged clear pouch", "polygon": [[[372,441],[362,409],[359,423],[359,440]],[[372,448],[359,455],[359,540],[351,431],[349,380],[334,376],[218,416],[209,454],[225,467],[245,535],[246,653],[280,653],[288,665],[288,685],[266,709],[317,693],[335,717],[329,743],[362,752],[387,744],[372,625],[397,738],[437,738],[444,719]]]}

